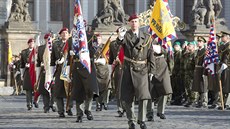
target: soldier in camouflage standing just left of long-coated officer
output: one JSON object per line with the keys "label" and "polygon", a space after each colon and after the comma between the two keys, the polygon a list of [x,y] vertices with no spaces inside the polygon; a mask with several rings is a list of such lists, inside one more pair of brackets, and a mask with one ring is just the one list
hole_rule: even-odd
{"label": "soldier in camouflage standing just left of long-coated officer", "polygon": [[192,91],[193,84],[193,72],[195,69],[195,46],[196,41],[188,43],[188,51],[184,55],[183,64],[184,64],[184,85],[185,85],[185,94],[187,98],[187,103],[185,107],[190,107],[196,101],[196,93]]}

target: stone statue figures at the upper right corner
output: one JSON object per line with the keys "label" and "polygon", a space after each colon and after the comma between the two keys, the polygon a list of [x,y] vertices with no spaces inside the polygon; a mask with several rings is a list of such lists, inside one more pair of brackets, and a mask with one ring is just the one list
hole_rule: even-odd
{"label": "stone statue figures at the upper right corner", "polygon": [[220,0],[194,0],[192,6],[192,25],[210,27],[212,18],[217,19],[223,6]]}

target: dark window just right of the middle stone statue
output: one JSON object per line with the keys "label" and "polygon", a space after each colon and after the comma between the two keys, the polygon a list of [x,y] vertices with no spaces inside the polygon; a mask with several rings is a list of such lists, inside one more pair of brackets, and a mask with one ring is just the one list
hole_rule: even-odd
{"label": "dark window just right of the middle stone statue", "polygon": [[125,13],[128,15],[132,15],[136,13],[135,10],[135,0],[124,0],[124,10]]}

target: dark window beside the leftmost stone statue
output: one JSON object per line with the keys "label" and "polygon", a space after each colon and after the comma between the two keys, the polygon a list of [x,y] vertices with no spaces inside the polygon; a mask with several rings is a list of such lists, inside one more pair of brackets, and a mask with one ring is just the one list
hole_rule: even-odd
{"label": "dark window beside the leftmost stone statue", "polygon": [[50,0],[50,20],[62,21],[64,0]]}

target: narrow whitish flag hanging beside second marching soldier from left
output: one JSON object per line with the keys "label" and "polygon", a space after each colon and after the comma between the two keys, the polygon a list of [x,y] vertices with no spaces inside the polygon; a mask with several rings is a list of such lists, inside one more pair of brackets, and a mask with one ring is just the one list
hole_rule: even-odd
{"label": "narrow whitish flag hanging beside second marching soldier from left", "polygon": [[50,71],[50,62],[51,62],[51,52],[52,52],[52,37],[48,37],[48,41],[46,43],[45,51],[43,54],[43,63],[45,69],[45,89],[51,95],[50,83],[51,83],[51,71]]}

